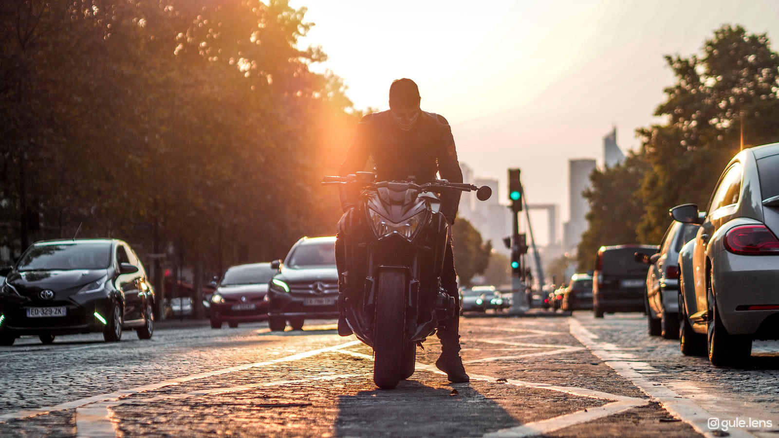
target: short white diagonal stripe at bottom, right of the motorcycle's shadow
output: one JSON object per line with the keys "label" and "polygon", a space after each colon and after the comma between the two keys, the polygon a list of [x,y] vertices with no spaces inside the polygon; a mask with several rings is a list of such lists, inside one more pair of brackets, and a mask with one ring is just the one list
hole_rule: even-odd
{"label": "short white diagonal stripe at bottom, right of the motorcycle's shadow", "polygon": [[[639,399],[636,399],[639,400]],[[595,408],[587,408],[581,411],[576,411],[571,414],[559,415],[552,419],[545,419],[538,422],[529,422],[522,426],[509,427],[506,429],[500,429],[497,432],[486,433],[485,438],[520,438],[522,436],[537,436],[544,433],[554,432],[555,430],[565,429],[569,426],[576,426],[583,422],[591,422],[609,415],[616,415],[620,412],[625,412],[629,409],[647,404],[649,401],[640,401],[636,403],[634,401],[614,401],[612,403],[604,404],[603,406],[597,406]]]}

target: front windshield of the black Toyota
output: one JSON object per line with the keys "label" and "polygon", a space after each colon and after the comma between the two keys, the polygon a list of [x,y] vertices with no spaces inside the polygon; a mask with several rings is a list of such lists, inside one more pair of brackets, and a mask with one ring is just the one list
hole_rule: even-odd
{"label": "front windshield of the black Toyota", "polygon": [[33,245],[19,259],[17,269],[106,269],[110,263],[110,242],[73,242],[55,245]]}

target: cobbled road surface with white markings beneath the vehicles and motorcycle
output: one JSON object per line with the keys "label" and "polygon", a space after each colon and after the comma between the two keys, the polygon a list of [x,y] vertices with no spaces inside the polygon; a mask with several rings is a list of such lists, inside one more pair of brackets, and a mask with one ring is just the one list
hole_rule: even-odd
{"label": "cobbled road surface with white markings beneath the vehicles and motorcycle", "polygon": [[467,315],[471,382],[432,366],[431,338],[395,390],[375,387],[372,352],[332,320],[164,326],[150,341],[0,347],[0,436],[779,436],[779,343],[717,369],[649,337],[637,313]]}

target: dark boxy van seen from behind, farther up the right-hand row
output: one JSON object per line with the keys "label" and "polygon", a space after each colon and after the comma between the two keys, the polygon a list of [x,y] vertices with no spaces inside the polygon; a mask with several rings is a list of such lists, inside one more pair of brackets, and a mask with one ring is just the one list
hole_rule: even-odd
{"label": "dark boxy van seen from behind, farther up the right-hand row", "polygon": [[593,313],[644,312],[647,287],[646,264],[636,261],[636,252],[654,254],[654,245],[601,246],[597,251],[593,276]]}

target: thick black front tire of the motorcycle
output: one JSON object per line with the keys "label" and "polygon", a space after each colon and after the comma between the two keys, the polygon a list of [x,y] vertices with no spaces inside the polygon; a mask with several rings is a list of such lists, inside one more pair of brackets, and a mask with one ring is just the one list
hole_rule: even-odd
{"label": "thick black front tire of the motorcycle", "polygon": [[373,351],[373,382],[391,390],[400,381],[400,357],[404,349],[406,277],[400,270],[379,273]]}

